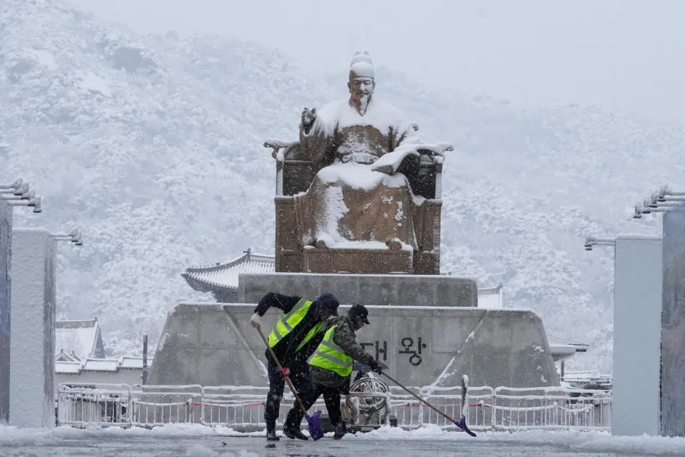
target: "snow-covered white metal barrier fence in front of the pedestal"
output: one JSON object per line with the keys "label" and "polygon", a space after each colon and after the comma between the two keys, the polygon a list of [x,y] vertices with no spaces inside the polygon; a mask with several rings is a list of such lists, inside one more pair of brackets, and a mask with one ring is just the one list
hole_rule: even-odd
{"label": "snow-covered white metal barrier fence in front of the pedestal", "polygon": [[[459,418],[461,388],[412,388],[448,415]],[[152,386],[126,384],[61,384],[57,391],[57,423],[61,426],[161,426],[201,423],[236,431],[265,428],[268,388],[250,386]],[[345,398],[345,397],[343,397]],[[285,394],[280,418],[293,405]],[[470,387],[468,422],[475,431],[573,429],[611,430],[611,391],[567,390],[559,387]],[[371,407],[372,406],[372,407]],[[323,400],[310,412],[325,411]],[[427,424],[457,427],[397,387],[355,392],[343,401],[348,424],[378,426],[397,421],[405,429]]]}

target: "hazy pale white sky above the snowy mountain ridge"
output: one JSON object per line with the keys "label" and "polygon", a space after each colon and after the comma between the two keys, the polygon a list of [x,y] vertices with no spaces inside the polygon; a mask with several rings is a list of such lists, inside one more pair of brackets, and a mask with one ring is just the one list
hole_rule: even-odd
{"label": "hazy pale white sky above the snowy mountain ridge", "polygon": [[310,69],[377,66],[524,106],[685,122],[685,0],[69,0],[138,32],[212,32]]}

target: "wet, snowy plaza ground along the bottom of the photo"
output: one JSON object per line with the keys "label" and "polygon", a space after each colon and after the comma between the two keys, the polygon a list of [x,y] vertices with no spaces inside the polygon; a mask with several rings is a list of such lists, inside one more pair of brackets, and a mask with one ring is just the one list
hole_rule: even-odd
{"label": "wet, snowy plaza ground along the bottom of the photo", "polygon": [[[263,432],[169,425],[153,430],[61,427],[54,430],[0,426],[0,456],[684,456],[685,438],[621,437],[577,431],[484,432],[477,438],[427,426],[415,431],[382,428],[319,441],[281,437],[266,448]],[[223,444],[225,443],[225,445]]]}

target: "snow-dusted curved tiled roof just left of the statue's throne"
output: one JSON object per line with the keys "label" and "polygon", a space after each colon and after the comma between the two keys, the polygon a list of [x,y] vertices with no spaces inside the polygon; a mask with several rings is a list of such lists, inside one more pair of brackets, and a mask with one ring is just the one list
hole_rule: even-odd
{"label": "snow-dusted curved tiled roof just left of the statue's throne", "polygon": [[273,273],[275,257],[245,251],[242,256],[226,263],[208,266],[191,266],[182,273],[184,279],[196,291],[213,292],[217,289],[238,289],[239,273]]}

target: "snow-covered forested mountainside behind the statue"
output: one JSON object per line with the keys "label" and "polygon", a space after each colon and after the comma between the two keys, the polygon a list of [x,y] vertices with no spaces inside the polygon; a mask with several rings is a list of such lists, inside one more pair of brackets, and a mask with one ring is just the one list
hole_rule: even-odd
{"label": "snow-covered forested mountainside behind the statue", "polygon": [[[60,253],[59,314],[98,316],[111,353],[156,341],[166,311],[203,299],[180,273],[251,246],[273,251],[273,159],[303,106],[345,96],[346,69],[305,74],[273,49],[215,36],[134,36],[59,0],[0,2],[0,181],[45,197],[16,225],[82,226]],[[506,77],[506,76],[502,76]],[[631,205],[685,175],[682,126],[597,106],[523,110],[377,69],[377,97],[452,141],[442,270],[504,284],[551,336],[591,343],[576,366],[610,369],[610,252],[587,233],[658,233]],[[559,341],[552,338],[552,341]]]}

